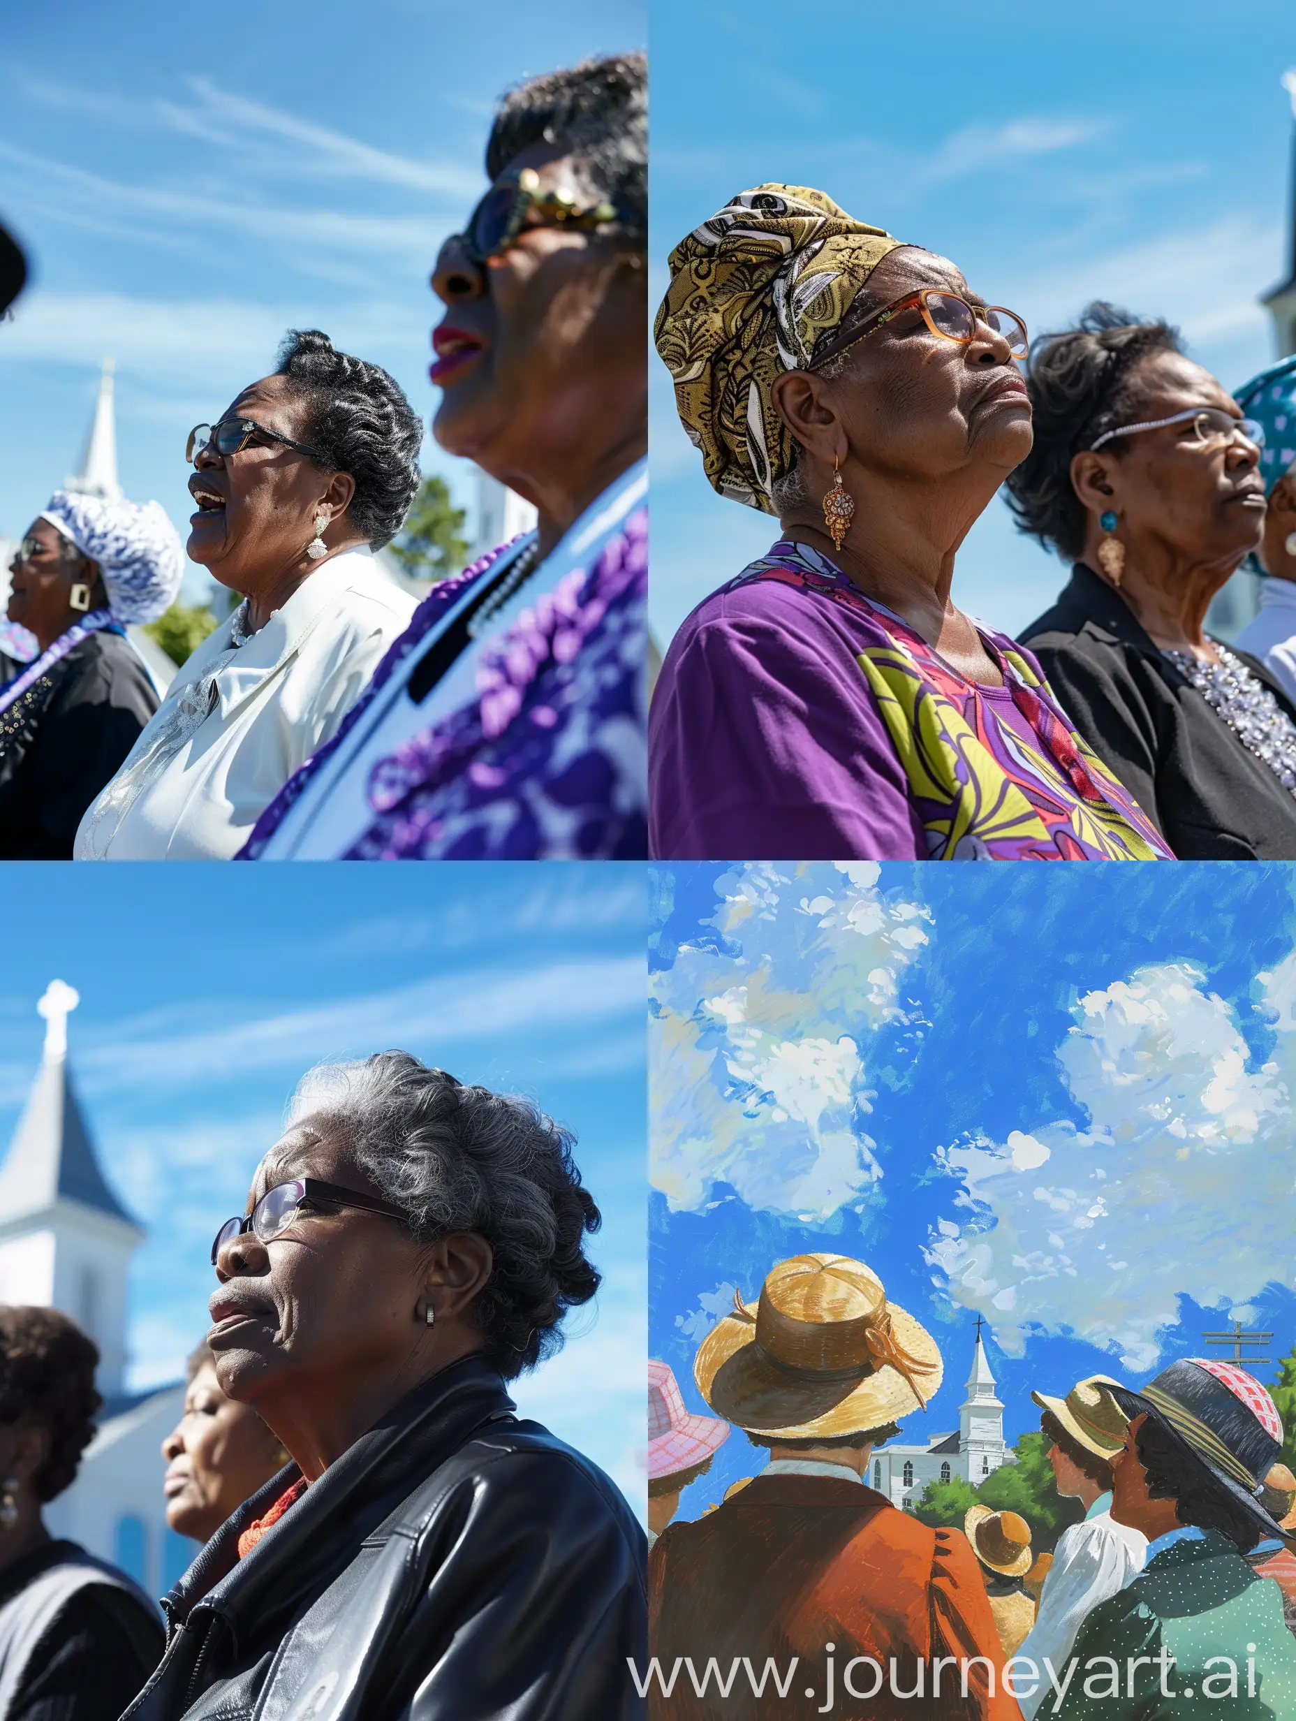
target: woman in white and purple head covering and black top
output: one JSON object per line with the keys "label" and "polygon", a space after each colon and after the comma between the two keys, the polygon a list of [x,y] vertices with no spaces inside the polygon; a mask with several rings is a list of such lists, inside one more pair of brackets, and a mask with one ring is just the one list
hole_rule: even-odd
{"label": "woman in white and purple head covering and black top", "polygon": [[81,816],[158,706],[126,623],[160,616],[182,570],[158,503],[55,490],[28,527],[9,620],[36,657],[0,687],[0,857],[72,859]]}

